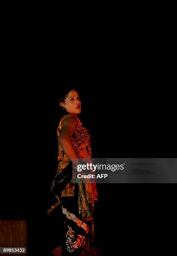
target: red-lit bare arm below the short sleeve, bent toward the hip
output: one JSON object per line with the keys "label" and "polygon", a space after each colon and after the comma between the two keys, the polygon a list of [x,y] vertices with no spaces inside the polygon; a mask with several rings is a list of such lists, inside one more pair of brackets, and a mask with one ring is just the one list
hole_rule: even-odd
{"label": "red-lit bare arm below the short sleeve, bent toward the hip", "polygon": [[[68,156],[68,159],[72,161],[73,165],[78,164],[78,157],[73,147],[72,136],[76,127],[73,123],[64,124],[60,131],[59,144],[63,148],[64,153]],[[73,160],[75,158],[75,160]]]}

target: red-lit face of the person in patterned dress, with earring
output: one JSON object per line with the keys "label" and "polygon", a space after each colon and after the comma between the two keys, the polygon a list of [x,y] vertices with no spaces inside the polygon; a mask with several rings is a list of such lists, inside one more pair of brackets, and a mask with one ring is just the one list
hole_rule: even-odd
{"label": "red-lit face of the person in patterned dress, with earring", "polygon": [[60,106],[66,109],[66,112],[73,115],[81,113],[81,100],[75,90],[69,91],[64,102],[60,102]]}

